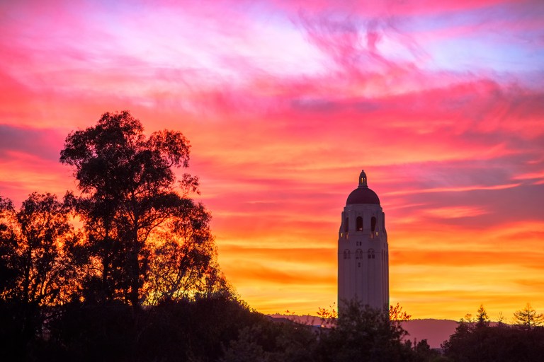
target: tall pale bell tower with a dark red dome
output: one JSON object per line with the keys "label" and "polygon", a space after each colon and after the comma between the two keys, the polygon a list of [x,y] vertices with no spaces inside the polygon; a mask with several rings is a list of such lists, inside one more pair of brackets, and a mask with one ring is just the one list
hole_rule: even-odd
{"label": "tall pale bell tower with a dark red dome", "polygon": [[338,238],[338,306],[358,300],[371,308],[389,308],[389,252],[385,214],[368,188],[365,171],[349,194]]}

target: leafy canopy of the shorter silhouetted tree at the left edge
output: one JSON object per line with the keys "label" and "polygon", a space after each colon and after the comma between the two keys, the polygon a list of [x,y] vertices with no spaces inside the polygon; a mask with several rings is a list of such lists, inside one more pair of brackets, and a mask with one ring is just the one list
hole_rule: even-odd
{"label": "leafy canopy of the shorter silhouetted tree at the left edge", "polygon": [[17,210],[0,197],[0,247],[6,284],[2,297],[23,305],[48,305],[69,291],[67,247],[73,241],[69,208],[52,194],[30,194]]}

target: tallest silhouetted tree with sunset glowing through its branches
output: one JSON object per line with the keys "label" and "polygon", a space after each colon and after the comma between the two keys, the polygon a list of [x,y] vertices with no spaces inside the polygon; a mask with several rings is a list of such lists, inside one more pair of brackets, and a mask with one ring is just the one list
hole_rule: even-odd
{"label": "tallest silhouetted tree with sunset glowing through its branches", "polygon": [[[89,263],[94,267],[88,282],[98,284],[98,298],[123,299],[137,308],[150,293],[157,294],[151,280],[151,286],[162,283],[159,293],[168,289],[166,281],[157,281],[161,276],[149,276],[157,255],[168,251],[165,244],[208,245],[183,254],[198,257],[200,264],[180,261],[172,267],[208,269],[213,264],[211,233],[182,240],[181,226],[189,222],[205,231],[210,219],[190,197],[198,192],[198,178],[184,173],[178,180],[174,173],[176,168],[188,168],[189,151],[181,132],[146,136],[142,123],[128,111],[106,112],[94,127],[67,136],[60,161],[74,168],[81,192],[72,199],[86,229]],[[174,249],[183,253],[180,247]],[[183,285],[192,287],[198,284]]]}

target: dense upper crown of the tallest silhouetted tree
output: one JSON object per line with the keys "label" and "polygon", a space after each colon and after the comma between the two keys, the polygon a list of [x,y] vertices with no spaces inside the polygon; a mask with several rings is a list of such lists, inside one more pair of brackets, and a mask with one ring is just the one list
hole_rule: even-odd
{"label": "dense upper crown of the tallest silhouetted tree", "polygon": [[143,132],[141,122],[128,111],[106,112],[95,127],[69,134],[60,161],[75,167],[85,194],[130,197],[149,190],[171,191],[176,178],[171,168],[188,167],[188,140],[181,132],[164,130],[149,138]]}

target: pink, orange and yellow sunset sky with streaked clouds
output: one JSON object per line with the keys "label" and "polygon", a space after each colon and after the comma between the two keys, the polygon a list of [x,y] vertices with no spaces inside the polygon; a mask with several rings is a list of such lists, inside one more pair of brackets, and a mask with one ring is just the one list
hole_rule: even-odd
{"label": "pink, orange and yellow sunset sky with streaked clouds", "polygon": [[191,141],[220,267],[262,313],[336,302],[361,169],[391,303],[544,312],[543,1],[0,1],[0,54],[18,205],[75,190],[66,136],[130,110]]}

